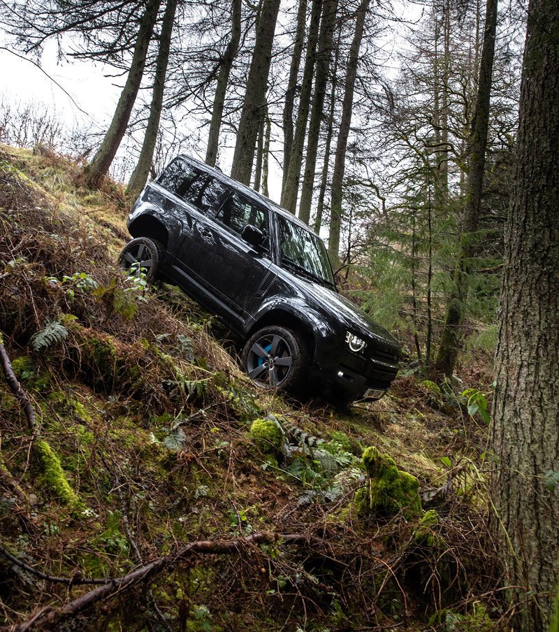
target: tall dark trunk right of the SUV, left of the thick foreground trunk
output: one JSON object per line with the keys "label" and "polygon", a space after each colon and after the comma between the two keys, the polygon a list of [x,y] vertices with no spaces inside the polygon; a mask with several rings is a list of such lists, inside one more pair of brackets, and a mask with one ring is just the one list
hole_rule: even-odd
{"label": "tall dark trunk right of the SUV, left of the thick foreground trunk", "polygon": [[434,374],[451,377],[458,352],[460,334],[465,313],[468,277],[475,250],[475,232],[481,208],[481,192],[484,185],[487,131],[489,127],[489,102],[491,76],[495,55],[495,29],[497,27],[497,0],[487,0],[484,44],[479,66],[476,108],[470,137],[470,171],[468,173],[464,215],[460,226],[458,261],[453,275],[453,289],[449,296],[447,315],[440,347],[435,360]]}

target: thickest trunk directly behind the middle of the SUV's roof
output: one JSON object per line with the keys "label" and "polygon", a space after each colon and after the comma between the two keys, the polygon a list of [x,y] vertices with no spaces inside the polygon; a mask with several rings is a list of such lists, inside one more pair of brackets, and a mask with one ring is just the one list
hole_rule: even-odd
{"label": "thickest trunk directly behind the middle of the SUV's roof", "polygon": [[268,73],[280,0],[263,0],[256,23],[256,42],[252,53],[245,100],[242,103],[237,142],[233,154],[231,178],[249,185],[256,148],[256,136],[265,115]]}

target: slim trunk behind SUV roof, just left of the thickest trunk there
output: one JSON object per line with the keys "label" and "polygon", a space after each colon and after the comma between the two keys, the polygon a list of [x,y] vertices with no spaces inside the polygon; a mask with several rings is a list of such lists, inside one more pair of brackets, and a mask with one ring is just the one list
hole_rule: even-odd
{"label": "slim trunk behind SUV roof, just left of the thickest trunk there", "polygon": [[208,137],[208,149],[205,152],[205,161],[210,166],[215,166],[217,150],[219,148],[219,129],[222,127],[223,108],[225,94],[229,81],[229,74],[233,67],[233,60],[237,55],[240,42],[240,16],[241,0],[233,0],[231,10],[231,39],[225,49],[224,56],[219,63],[217,85],[215,87],[214,105],[212,108],[212,120],[210,121],[210,134]]}

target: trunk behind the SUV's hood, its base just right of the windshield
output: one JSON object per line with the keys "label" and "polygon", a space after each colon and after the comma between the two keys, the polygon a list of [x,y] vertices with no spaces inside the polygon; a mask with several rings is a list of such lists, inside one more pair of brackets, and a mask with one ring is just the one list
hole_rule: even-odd
{"label": "trunk behind the SUV's hood, its base just right of the windshield", "polygon": [[344,101],[342,103],[342,120],[340,131],[337,135],[334,173],[332,175],[332,198],[330,208],[330,236],[328,238],[328,254],[334,268],[340,263],[340,231],[342,226],[342,185],[345,171],[345,152],[347,139],[349,138],[349,126],[351,125],[351,110],[354,104],[354,89],[357,76],[357,64],[359,61],[359,48],[363,38],[365,17],[370,0],[361,0],[357,9],[355,34],[349,48],[349,60],[344,84]]}

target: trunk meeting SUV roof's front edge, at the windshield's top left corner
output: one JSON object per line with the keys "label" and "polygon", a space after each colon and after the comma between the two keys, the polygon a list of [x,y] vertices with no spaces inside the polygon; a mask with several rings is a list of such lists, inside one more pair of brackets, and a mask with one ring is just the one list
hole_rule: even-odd
{"label": "trunk meeting SUV roof's front edge, at the windshield's top left corner", "polygon": [[297,110],[297,123],[295,136],[291,146],[289,168],[285,184],[282,189],[282,206],[291,213],[295,213],[297,206],[297,194],[299,192],[299,176],[301,163],[303,162],[303,149],[305,147],[305,134],[309,120],[310,97],[312,92],[312,76],[317,61],[317,41],[319,35],[321,1],[312,0],[310,15],[309,38],[307,40],[307,55],[305,56],[305,69],[303,70],[303,82],[299,95],[299,107]]}

